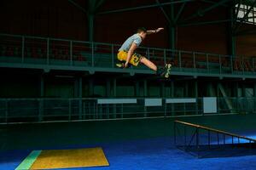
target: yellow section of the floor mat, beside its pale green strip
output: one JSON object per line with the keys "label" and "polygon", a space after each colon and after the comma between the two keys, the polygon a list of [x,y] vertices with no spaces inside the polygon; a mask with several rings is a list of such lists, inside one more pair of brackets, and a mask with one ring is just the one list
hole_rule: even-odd
{"label": "yellow section of the floor mat, beside its pale green strip", "polygon": [[109,166],[102,148],[43,150],[30,169]]}

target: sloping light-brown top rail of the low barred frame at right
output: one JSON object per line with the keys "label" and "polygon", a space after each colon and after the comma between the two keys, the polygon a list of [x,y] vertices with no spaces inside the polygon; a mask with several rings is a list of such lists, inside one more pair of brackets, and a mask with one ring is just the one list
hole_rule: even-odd
{"label": "sloping light-brown top rail of the low barred frame at right", "polygon": [[204,127],[204,126],[193,124],[193,123],[190,123],[190,122],[182,122],[182,121],[177,121],[177,120],[174,121],[174,122],[177,122],[177,123],[180,123],[180,124],[183,124],[183,125],[187,125],[187,126],[190,126],[190,127],[201,128],[201,129],[212,131],[212,132],[215,132],[215,133],[223,133],[223,134],[226,134],[226,135],[234,136],[234,137],[239,138],[239,139],[250,140],[250,141],[253,141],[253,142],[256,143],[256,139],[250,139],[250,138],[247,138],[245,136],[241,136],[241,135],[238,135],[238,134],[235,134],[235,133],[228,133],[228,132],[225,132],[225,131],[222,131],[222,130],[218,130],[218,129],[211,128],[211,127]]}

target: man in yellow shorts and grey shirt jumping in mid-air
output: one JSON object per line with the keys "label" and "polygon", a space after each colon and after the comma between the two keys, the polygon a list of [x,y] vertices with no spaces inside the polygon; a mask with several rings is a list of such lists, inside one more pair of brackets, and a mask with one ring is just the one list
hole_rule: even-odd
{"label": "man in yellow shorts and grey shirt jumping in mid-air", "polygon": [[164,68],[160,68],[154,65],[154,63],[148,60],[146,57],[135,53],[135,49],[140,45],[140,43],[147,35],[158,33],[162,30],[164,30],[164,28],[148,31],[145,28],[138,28],[137,34],[127,38],[121,48],[119,48],[117,57],[120,63],[118,63],[117,66],[121,68],[127,68],[130,65],[137,66],[139,63],[143,63],[144,65],[147,65],[149,69],[155,71],[156,75],[168,78],[171,71],[171,64],[166,64]]}

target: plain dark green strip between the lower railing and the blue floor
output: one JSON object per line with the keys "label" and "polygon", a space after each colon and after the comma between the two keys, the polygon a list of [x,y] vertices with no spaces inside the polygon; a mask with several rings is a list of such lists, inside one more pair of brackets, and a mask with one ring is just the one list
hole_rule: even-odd
{"label": "plain dark green strip between the lower railing and the blue floor", "polygon": [[[235,133],[253,130],[256,124],[255,114],[193,116],[176,119]],[[41,149],[72,144],[100,144],[132,139],[172,137],[174,120],[175,118],[158,118],[0,125],[0,150]]]}

